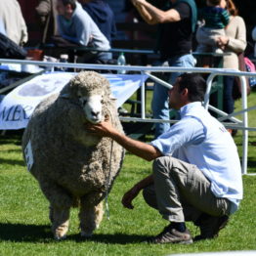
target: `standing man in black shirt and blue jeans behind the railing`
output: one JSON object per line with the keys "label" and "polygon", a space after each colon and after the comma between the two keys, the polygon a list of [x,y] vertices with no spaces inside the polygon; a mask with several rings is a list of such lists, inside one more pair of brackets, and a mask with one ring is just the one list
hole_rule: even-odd
{"label": "standing man in black shirt and blue jeans behind the railing", "polygon": [[[193,0],[166,1],[164,11],[149,4],[146,0],[132,0],[142,18],[149,24],[159,24],[157,49],[161,63],[168,61],[170,66],[193,67],[192,32],[194,31],[197,10]],[[179,73],[170,73],[169,82],[174,83]],[[152,97],[153,118],[169,120],[168,89],[155,83]],[[155,124],[155,137],[166,132],[169,123]]]}

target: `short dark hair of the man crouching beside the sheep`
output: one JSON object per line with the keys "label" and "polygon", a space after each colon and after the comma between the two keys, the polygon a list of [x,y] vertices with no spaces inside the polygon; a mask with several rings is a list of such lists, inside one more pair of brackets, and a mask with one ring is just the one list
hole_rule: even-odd
{"label": "short dark hair of the man crouching beside the sheep", "polygon": [[187,88],[190,102],[202,102],[206,91],[206,82],[203,77],[196,73],[183,73],[179,77],[180,92]]}

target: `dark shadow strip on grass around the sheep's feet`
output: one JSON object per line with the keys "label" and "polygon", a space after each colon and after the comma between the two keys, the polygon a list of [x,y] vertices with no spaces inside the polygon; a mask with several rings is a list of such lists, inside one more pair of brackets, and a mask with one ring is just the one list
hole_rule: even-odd
{"label": "dark shadow strip on grass around the sheep's feet", "polygon": [[[82,238],[80,234],[68,235],[65,240],[75,242],[102,242],[111,244],[126,244],[142,242],[145,235],[125,235],[125,234],[95,234],[91,238]],[[53,238],[50,226],[48,225],[24,225],[0,223],[0,241],[12,242],[56,242]]]}

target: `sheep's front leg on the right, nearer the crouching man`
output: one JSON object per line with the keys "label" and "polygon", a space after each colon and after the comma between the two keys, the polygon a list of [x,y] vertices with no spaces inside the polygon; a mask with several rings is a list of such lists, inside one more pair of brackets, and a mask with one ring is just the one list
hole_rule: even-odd
{"label": "sheep's front leg on the right, nearer the crouching man", "polygon": [[95,229],[98,229],[104,216],[104,204],[101,201],[95,205],[95,199],[101,197],[98,194],[90,194],[81,198],[79,219],[81,236],[90,237]]}

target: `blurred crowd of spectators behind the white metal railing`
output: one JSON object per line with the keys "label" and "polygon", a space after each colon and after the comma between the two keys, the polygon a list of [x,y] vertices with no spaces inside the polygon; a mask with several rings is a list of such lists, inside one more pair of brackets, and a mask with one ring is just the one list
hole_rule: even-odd
{"label": "blurred crowd of spectators behind the white metal railing", "polygon": [[[19,47],[27,48],[27,58],[32,60],[42,60],[43,50],[40,48],[47,46],[52,46],[52,49],[76,47],[77,52],[82,47],[88,47],[92,50],[78,54],[79,63],[113,64],[109,50],[118,35],[118,12],[124,14],[124,11],[126,15],[122,22],[146,21],[158,25],[155,47],[151,46],[159,53],[158,64],[193,67],[195,61],[192,52],[213,53],[224,54],[223,67],[242,70],[240,61],[243,61],[244,53],[252,61],[256,59],[256,46],[254,51],[252,47],[252,40],[256,41],[256,26],[249,31],[248,40],[245,21],[239,16],[233,0],[206,0],[200,8],[194,0],[127,0],[123,6],[121,1],[113,1],[109,5],[106,0],[38,0],[33,10],[29,10],[30,13],[33,11],[35,18],[33,29],[39,32],[33,44],[38,49],[32,50],[29,49],[29,30],[21,12],[21,2],[0,1],[0,47],[6,47],[6,38],[11,39],[17,45],[16,51],[19,52]],[[113,5],[122,10],[116,10]],[[147,32],[138,33],[139,40],[149,38]],[[129,39],[129,33],[125,37]],[[251,50],[247,51],[249,47]],[[5,53],[2,50],[2,58]],[[68,61],[73,62],[74,59],[69,58]],[[203,65],[210,66],[207,63]],[[168,81],[173,83],[178,75],[171,73]],[[223,108],[231,113],[234,111],[233,91],[237,81],[234,76],[225,76],[223,83]],[[167,89],[155,84],[152,101],[154,118],[169,119],[167,98]],[[155,136],[168,127],[168,123],[159,124]]]}

